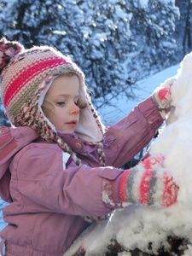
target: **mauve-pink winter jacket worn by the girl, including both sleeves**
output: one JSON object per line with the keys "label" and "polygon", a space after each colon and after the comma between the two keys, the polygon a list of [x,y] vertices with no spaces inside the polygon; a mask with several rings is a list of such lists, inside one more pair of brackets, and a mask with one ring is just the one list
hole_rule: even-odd
{"label": "mauve-pink winter jacket worn by the girl, including both sleeves", "polygon": [[118,168],[149,143],[162,122],[149,97],[108,128],[103,141],[107,167],[100,166],[96,147],[84,145],[75,134],[60,136],[77,152],[80,166],[29,127],[1,127],[0,195],[9,206],[3,209],[8,226],[0,236],[6,256],[62,256],[89,225],[81,216],[122,207],[123,170]]}

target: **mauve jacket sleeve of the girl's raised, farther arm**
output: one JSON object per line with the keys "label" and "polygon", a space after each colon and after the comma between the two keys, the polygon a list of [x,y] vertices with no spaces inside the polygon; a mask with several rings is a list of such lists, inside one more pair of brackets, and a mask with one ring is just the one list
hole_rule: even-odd
{"label": "mauve jacket sleeve of the girl's raised, farther arm", "polygon": [[141,102],[108,128],[103,145],[106,165],[119,167],[131,160],[148,145],[163,121],[151,97]]}

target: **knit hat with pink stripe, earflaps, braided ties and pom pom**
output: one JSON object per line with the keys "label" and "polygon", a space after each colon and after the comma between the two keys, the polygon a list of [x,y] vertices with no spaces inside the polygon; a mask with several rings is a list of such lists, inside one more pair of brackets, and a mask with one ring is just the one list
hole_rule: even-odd
{"label": "knit hat with pink stripe, earflaps, braided ties and pom pom", "polygon": [[11,124],[16,127],[29,126],[45,141],[55,141],[79,164],[72,148],[59,137],[55,126],[46,119],[41,109],[53,79],[67,73],[78,76],[79,94],[88,105],[81,111],[75,132],[84,143],[97,145],[100,161],[104,165],[101,141],[105,128],[90,102],[84,73],[68,56],[52,47],[24,49],[18,42],[9,42],[5,38],[0,40],[1,97]]}

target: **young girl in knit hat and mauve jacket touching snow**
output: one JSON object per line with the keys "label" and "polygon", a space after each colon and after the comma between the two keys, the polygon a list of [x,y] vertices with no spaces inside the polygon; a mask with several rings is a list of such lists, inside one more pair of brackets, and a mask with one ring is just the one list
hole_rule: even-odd
{"label": "young girl in knit hat and mauve jacket touching snow", "polygon": [[177,184],[163,156],[122,166],[142,150],[171,106],[166,81],[111,127],[102,125],[82,73],[47,47],[0,41],[1,97],[13,128],[0,131],[6,256],[62,256],[92,221],[127,203],[168,207]]}

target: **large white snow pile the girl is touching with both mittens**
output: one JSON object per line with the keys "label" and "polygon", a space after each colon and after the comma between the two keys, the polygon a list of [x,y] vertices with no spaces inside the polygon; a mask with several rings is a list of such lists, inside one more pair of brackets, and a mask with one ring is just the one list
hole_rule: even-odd
{"label": "large white snow pile the girl is touching with both mittens", "polygon": [[[104,255],[113,240],[127,250],[137,247],[144,252],[152,242],[150,253],[157,253],[162,244],[168,248],[167,236],[192,242],[192,53],[184,58],[172,85],[172,106],[166,129],[152,144],[150,154],[164,154],[164,167],[180,188],[177,203],[168,208],[130,205],[116,210],[108,221],[85,230],[65,256],[73,255],[81,245],[88,256]],[[189,246],[184,255],[191,254]]]}

